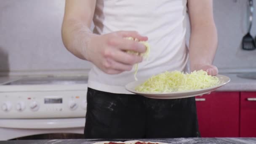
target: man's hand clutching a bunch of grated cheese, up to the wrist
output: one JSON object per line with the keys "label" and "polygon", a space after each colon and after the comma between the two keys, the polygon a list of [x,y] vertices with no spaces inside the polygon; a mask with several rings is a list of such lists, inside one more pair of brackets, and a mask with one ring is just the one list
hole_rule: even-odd
{"label": "man's hand clutching a bunch of grated cheese, up to the wrist", "polygon": [[126,53],[135,51],[144,53],[146,47],[134,40],[125,37],[137,38],[139,41],[148,40],[135,31],[118,31],[105,35],[93,35],[88,41],[83,55],[96,67],[107,74],[119,74],[130,71],[133,65],[143,60],[141,56]]}

